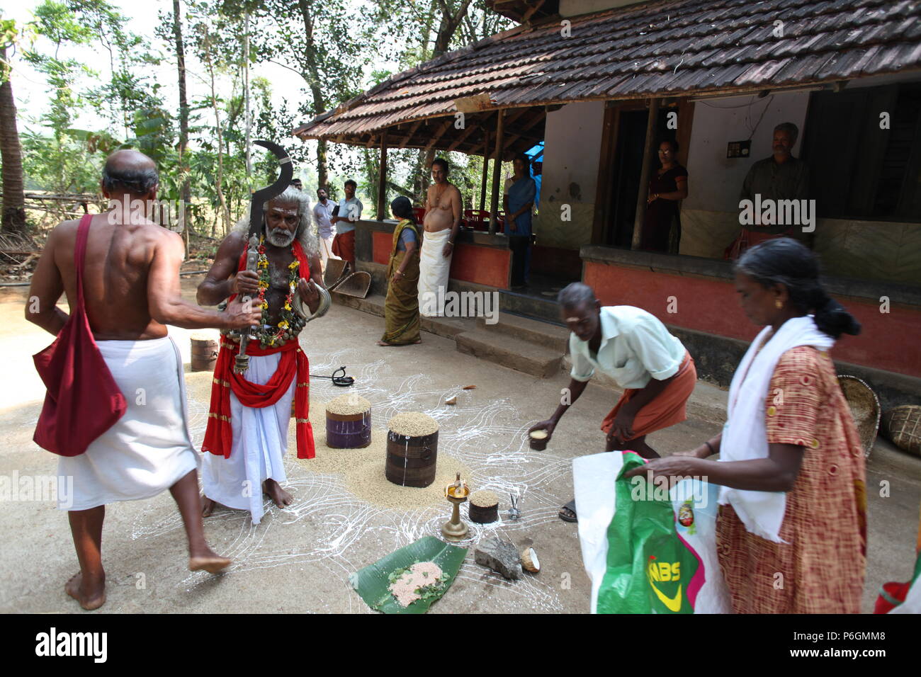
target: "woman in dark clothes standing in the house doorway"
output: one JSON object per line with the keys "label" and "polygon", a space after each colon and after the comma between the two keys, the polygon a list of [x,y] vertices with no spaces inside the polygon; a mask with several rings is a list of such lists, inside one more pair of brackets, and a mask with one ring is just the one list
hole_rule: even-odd
{"label": "woman in dark clothes standing in the house doorway", "polygon": [[[682,232],[678,202],[688,196],[688,170],[678,164],[677,152],[678,144],[674,141],[659,144],[661,167],[649,179],[641,250],[678,253]],[[672,226],[675,227],[674,237],[671,237]]]}

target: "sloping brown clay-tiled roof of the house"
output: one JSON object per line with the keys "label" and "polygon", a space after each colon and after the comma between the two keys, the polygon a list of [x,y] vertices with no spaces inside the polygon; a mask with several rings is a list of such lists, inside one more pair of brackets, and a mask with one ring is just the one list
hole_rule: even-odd
{"label": "sloping brown clay-tiled roof of the house", "polygon": [[[371,143],[384,128],[453,115],[455,99],[476,95],[487,95],[493,110],[775,89],[921,68],[921,0],[673,0],[569,20],[570,37],[554,18],[443,54],[295,134]],[[460,134],[450,130],[436,147]],[[467,136],[457,149],[480,143]],[[425,137],[406,145],[425,146]]]}

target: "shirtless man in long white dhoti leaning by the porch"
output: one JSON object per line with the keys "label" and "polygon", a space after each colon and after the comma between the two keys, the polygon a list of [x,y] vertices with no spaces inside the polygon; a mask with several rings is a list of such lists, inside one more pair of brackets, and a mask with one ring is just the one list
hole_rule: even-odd
{"label": "shirtless man in long white dhoti leaning by the porch", "polygon": [[444,158],[432,162],[432,179],[435,182],[426,194],[425,233],[419,252],[419,313],[440,317],[445,312],[454,240],[461,228],[461,191],[448,182],[448,161]]}

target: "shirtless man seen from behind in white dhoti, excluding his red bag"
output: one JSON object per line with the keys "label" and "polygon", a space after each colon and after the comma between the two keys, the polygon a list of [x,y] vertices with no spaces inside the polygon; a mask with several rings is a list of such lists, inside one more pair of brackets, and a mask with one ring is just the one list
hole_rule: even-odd
{"label": "shirtless man seen from behind in white dhoti, excluding his red bag", "polygon": [[[150,158],[134,150],[113,153],[102,170],[102,194],[130,209],[84,217],[89,326],[128,404],[83,454],[61,457],[58,463],[58,474],[74,481],[73,501],[59,501],[59,507],[69,510],[80,563],[80,572],[64,589],[87,610],[106,601],[102,521],[112,501],[149,498],[169,488],[185,525],[189,568],[216,573],[230,564],[204,541],[182,360],[166,325],[240,328],[257,324],[260,313],[239,303],[220,313],[181,299],[182,240],[145,217],[146,204],[157,197],[157,181]],[[80,222],[64,221],[52,230],[32,276],[26,319],[55,335],[68,319],[55,305],[61,294],[66,292],[72,308],[76,305],[78,228]],[[87,411],[99,404],[86,403]]]}

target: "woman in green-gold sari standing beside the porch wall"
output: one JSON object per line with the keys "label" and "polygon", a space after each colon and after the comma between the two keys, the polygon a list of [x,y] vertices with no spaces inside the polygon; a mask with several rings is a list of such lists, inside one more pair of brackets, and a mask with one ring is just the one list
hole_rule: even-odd
{"label": "woman in green-gold sari standing beside the porch wall", "polygon": [[378,345],[422,343],[419,337],[419,229],[413,204],[402,195],[391,202],[393,216],[400,223],[393,228],[391,263],[387,266],[387,300],[384,302],[386,331]]}

